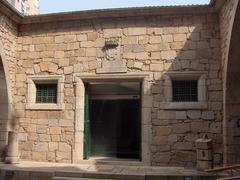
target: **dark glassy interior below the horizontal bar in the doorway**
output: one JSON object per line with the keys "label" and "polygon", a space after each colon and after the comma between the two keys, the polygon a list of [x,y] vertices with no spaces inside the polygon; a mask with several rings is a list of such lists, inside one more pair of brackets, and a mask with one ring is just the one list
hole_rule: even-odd
{"label": "dark glassy interior below the horizontal bar in the doorway", "polygon": [[91,156],[139,159],[139,100],[90,100]]}

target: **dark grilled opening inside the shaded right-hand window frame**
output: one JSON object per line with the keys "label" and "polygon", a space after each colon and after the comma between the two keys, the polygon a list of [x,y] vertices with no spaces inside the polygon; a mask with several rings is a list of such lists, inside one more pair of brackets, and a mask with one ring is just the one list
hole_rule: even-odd
{"label": "dark grilled opening inside the shaded right-hand window frame", "polygon": [[198,101],[198,81],[180,80],[172,81],[173,101],[174,102],[193,102]]}

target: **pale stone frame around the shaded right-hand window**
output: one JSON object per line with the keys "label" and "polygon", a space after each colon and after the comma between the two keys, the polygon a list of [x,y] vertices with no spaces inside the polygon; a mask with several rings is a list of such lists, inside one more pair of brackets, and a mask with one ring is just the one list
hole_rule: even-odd
{"label": "pale stone frame around the shaded right-hand window", "polygon": [[[172,80],[197,80],[198,101],[173,102]],[[163,75],[165,102],[160,103],[161,109],[185,110],[207,108],[206,72],[168,72]]]}

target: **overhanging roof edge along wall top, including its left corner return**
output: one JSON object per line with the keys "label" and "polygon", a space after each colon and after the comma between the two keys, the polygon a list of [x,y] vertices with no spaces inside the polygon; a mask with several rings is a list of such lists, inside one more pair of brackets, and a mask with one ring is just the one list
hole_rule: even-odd
{"label": "overhanging roof edge along wall top, including its left corner return", "polygon": [[200,14],[217,12],[223,3],[224,0],[211,0],[209,5],[115,8],[23,16],[6,0],[0,0],[0,11],[17,24],[31,24],[67,20],[134,17],[144,15]]}

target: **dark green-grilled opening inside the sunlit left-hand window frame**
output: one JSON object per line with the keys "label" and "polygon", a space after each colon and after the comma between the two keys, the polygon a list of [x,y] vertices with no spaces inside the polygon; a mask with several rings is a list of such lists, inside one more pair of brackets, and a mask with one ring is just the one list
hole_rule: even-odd
{"label": "dark green-grilled opening inside the sunlit left-hand window frame", "polygon": [[57,103],[57,84],[36,84],[36,103]]}

